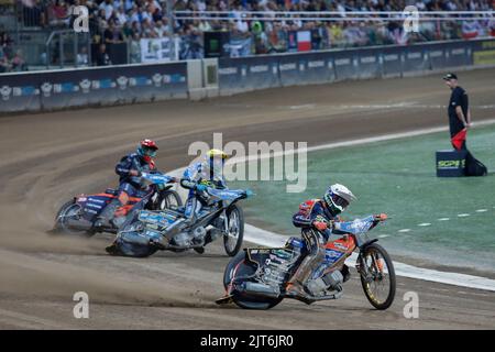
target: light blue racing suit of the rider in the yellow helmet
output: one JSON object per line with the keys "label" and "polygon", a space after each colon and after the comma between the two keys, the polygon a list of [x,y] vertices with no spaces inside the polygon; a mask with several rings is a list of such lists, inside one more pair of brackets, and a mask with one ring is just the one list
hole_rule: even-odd
{"label": "light blue racing suit of the rider in the yellow helmet", "polygon": [[209,198],[205,191],[207,186],[227,188],[223,174],[213,172],[207,161],[195,163],[186,168],[180,179],[180,186],[189,189],[184,212],[189,223],[199,217],[201,209],[207,205]]}

